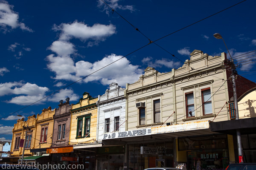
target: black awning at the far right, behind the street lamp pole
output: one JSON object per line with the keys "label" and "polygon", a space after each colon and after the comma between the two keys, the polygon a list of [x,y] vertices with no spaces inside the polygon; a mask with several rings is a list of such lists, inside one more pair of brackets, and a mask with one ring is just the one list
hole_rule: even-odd
{"label": "black awning at the far right, behind the street lamp pole", "polygon": [[241,134],[253,134],[256,132],[256,117],[210,122],[210,129],[212,132],[231,135],[236,134],[236,129],[240,129]]}

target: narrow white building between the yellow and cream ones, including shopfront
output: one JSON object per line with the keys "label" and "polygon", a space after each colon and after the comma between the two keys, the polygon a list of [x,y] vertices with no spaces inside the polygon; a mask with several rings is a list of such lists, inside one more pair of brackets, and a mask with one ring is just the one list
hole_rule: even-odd
{"label": "narrow white building between the yellow and cream ones, including shopfront", "polygon": [[[102,143],[102,139],[108,138],[113,132],[125,131],[124,92],[125,88],[121,88],[117,83],[112,82],[105,94],[98,97],[97,141],[99,143]],[[123,167],[125,156],[123,148],[123,146],[121,146],[121,149],[114,147],[115,152],[111,152],[108,146],[98,148],[96,168],[119,169],[119,167]],[[111,164],[112,160],[114,160],[114,163]]]}

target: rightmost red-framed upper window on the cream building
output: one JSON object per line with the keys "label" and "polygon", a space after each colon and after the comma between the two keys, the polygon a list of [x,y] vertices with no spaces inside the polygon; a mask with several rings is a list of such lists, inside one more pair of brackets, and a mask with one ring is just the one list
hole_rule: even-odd
{"label": "rightmost red-framed upper window on the cream building", "polygon": [[203,115],[212,114],[212,99],[210,88],[202,89]]}

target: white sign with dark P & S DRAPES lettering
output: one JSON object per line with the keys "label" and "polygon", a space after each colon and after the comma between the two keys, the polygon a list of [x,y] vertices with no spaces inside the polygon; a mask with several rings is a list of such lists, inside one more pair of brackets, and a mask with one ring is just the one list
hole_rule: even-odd
{"label": "white sign with dark P & S DRAPES lettering", "polygon": [[103,139],[116,139],[116,138],[143,136],[143,135],[150,135],[150,134],[151,134],[151,128],[146,128],[146,129],[140,129],[140,130],[131,130],[131,131],[125,131],[125,132],[103,134]]}

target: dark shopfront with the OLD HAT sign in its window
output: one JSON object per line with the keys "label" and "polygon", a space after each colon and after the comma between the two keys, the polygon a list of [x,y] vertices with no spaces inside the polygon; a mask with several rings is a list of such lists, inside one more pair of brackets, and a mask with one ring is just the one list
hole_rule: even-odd
{"label": "dark shopfront with the OLD HAT sign in its window", "polygon": [[183,163],[188,170],[224,170],[229,164],[227,135],[223,134],[181,137],[178,152],[186,153]]}

